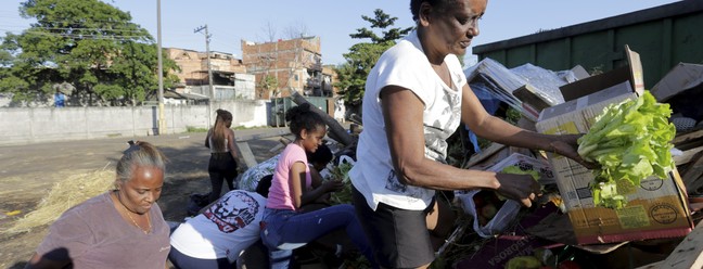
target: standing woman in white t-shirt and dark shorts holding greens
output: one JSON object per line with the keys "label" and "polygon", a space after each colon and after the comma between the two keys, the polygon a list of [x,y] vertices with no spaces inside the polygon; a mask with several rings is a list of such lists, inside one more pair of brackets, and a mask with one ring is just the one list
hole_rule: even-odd
{"label": "standing woman in white t-shirt and dark shorts holding greens", "polygon": [[448,165],[446,140],[460,123],[498,143],[584,163],[576,153],[577,136],[546,136],[510,125],[486,113],[469,88],[457,55],[464,55],[478,35],[486,5],[487,0],[411,0],[417,29],[385,51],[369,73],[363,131],[349,177],[358,218],[382,267],[425,268],[434,260],[431,232],[437,230],[437,217],[425,217],[442,213],[435,190],[493,189],[525,206],[539,194],[539,184],[526,175]]}

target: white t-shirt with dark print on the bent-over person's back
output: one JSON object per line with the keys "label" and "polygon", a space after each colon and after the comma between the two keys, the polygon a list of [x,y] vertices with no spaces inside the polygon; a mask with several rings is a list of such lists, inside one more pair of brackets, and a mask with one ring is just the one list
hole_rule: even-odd
{"label": "white t-shirt with dark print on the bent-over person's back", "polygon": [[227,257],[239,254],[259,240],[259,221],[266,198],[256,192],[226,193],[203,214],[180,225],[170,236],[172,247],[193,258]]}

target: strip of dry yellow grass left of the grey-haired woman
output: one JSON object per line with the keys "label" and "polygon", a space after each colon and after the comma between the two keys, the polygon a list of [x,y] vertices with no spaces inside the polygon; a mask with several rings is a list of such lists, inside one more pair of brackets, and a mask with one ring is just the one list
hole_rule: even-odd
{"label": "strip of dry yellow grass left of the grey-haired woman", "polygon": [[68,208],[112,189],[114,181],[114,170],[102,169],[71,175],[56,182],[35,210],[17,219],[5,232],[25,232],[50,225]]}

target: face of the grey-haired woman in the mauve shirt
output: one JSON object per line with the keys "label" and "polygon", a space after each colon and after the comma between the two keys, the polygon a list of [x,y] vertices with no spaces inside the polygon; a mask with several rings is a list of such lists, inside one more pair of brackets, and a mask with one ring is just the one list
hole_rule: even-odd
{"label": "face of the grey-haired woman in the mauve shirt", "polygon": [[164,171],[154,166],[138,166],[128,181],[118,181],[122,202],[135,213],[144,214],[158,200]]}

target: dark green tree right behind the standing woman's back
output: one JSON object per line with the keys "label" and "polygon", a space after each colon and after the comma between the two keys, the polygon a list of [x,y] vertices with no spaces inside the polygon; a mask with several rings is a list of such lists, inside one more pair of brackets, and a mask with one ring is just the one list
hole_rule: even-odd
{"label": "dark green tree right behind the standing woman's back", "polygon": [[[371,29],[358,28],[356,34],[349,36],[355,39],[368,38],[371,41],[352,46],[349,52],[344,54],[346,63],[336,67],[340,82],[335,84],[335,87],[342,89],[340,93],[349,106],[361,104],[366,79],[381,54],[412,30],[412,27],[391,28],[398,18],[391,17],[380,9],[374,11],[374,17],[362,15],[361,18],[371,24]],[[376,35],[373,28],[380,29],[381,35]]]}

